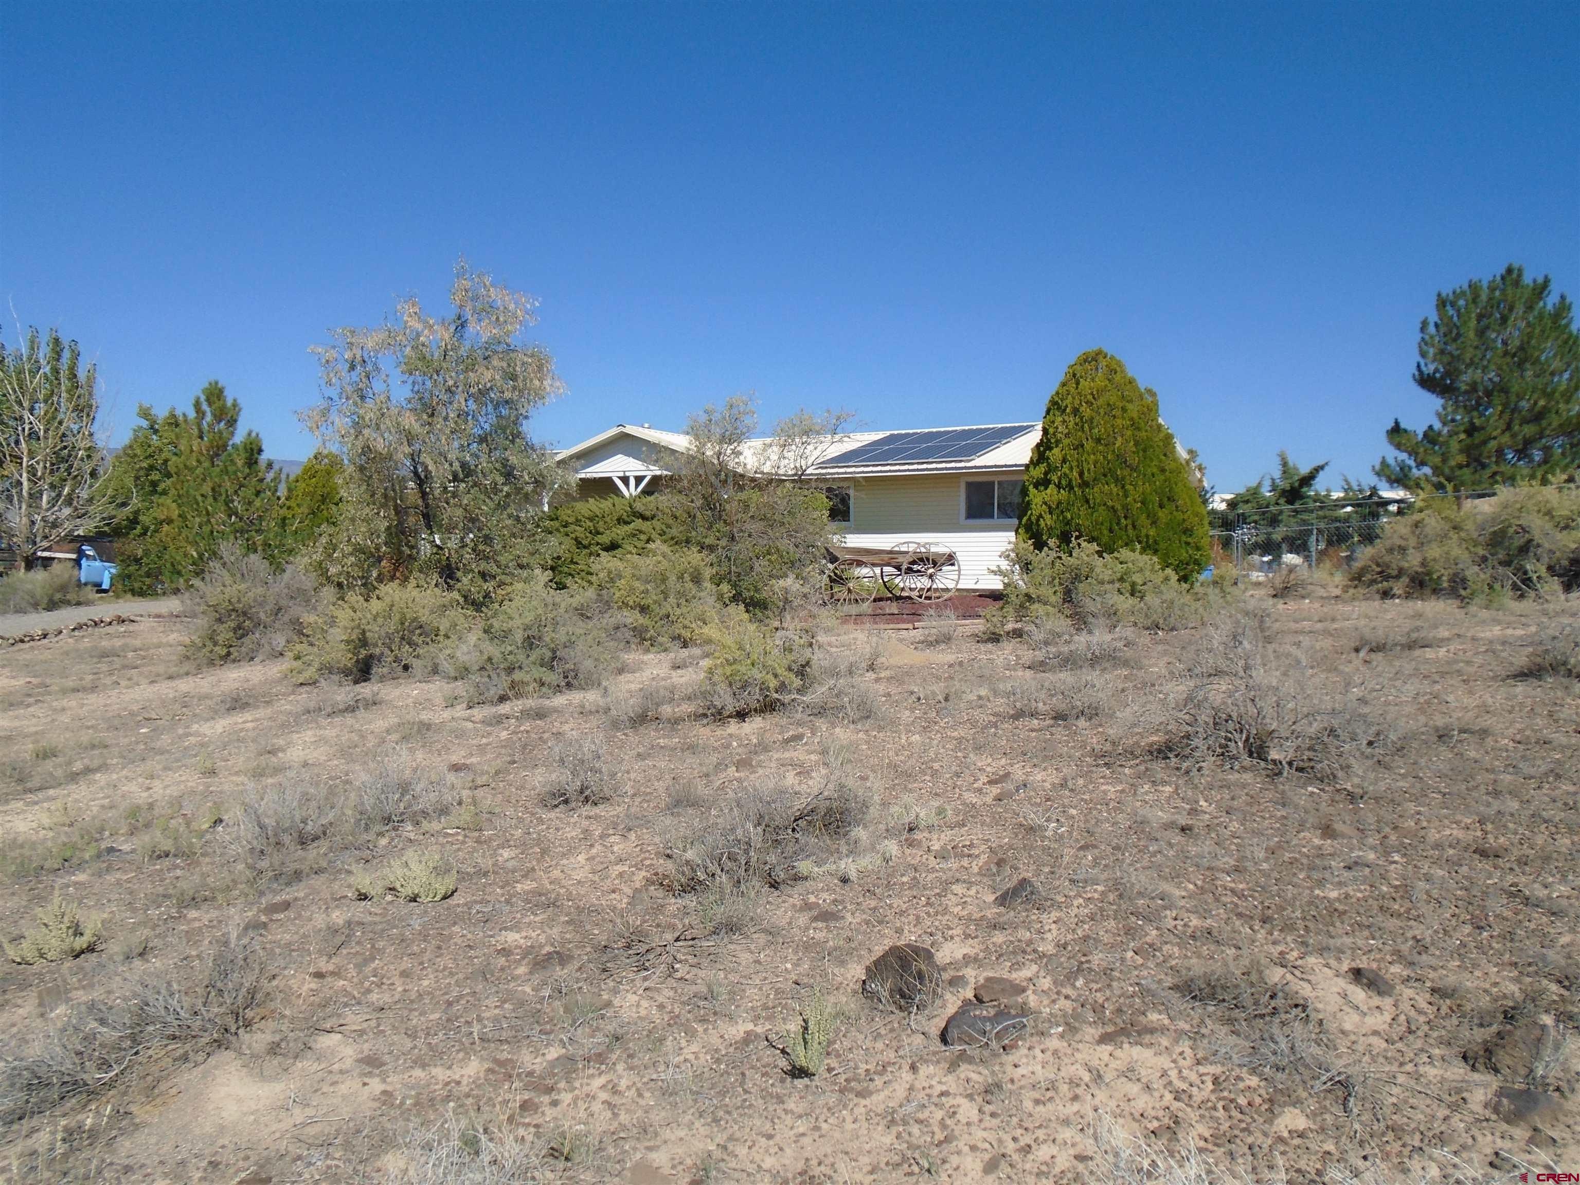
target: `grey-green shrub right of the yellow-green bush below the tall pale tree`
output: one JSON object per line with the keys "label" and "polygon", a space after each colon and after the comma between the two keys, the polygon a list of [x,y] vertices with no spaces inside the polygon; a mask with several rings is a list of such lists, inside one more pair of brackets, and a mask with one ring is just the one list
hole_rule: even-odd
{"label": "grey-green shrub right of the yellow-green bush below the tall pale tree", "polygon": [[597,687],[619,667],[619,629],[589,589],[561,591],[536,574],[482,615],[441,670],[466,681],[471,705]]}

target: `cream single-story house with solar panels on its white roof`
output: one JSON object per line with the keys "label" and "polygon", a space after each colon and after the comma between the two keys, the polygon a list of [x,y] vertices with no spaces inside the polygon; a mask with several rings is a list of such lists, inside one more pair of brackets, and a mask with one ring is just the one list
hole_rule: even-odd
{"label": "cream single-story house with solar panels on its white roof", "polygon": [[[841,433],[817,442],[806,480],[828,495],[830,518],[848,545],[940,544],[959,556],[962,589],[992,589],[1041,428]],[[683,433],[618,423],[559,458],[575,469],[577,498],[638,498],[660,490],[689,449]],[[773,457],[771,441],[747,441],[749,465],[771,471]]]}

